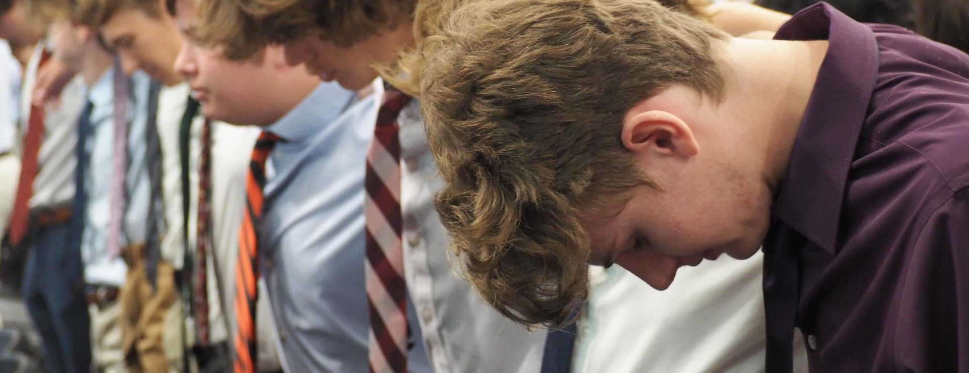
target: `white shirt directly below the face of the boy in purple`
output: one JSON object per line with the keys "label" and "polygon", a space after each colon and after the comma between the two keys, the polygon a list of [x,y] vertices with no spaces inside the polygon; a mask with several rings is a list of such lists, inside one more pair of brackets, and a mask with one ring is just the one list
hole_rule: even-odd
{"label": "white shirt directly below the face of the boy in purple", "polygon": [[[679,268],[662,292],[618,265],[590,268],[573,372],[764,372],[763,267],[761,252],[724,255]],[[806,373],[800,340],[794,371]]]}

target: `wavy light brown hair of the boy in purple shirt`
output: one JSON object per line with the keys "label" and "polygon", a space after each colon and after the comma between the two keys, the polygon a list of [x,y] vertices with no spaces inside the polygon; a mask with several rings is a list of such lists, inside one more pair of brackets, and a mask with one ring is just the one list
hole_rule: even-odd
{"label": "wavy light brown hair of the boy in purple shirt", "polygon": [[525,325],[588,295],[585,218],[652,188],[620,141],[629,109],[673,84],[719,102],[726,34],[653,0],[493,0],[422,46],[436,200],[460,270]]}

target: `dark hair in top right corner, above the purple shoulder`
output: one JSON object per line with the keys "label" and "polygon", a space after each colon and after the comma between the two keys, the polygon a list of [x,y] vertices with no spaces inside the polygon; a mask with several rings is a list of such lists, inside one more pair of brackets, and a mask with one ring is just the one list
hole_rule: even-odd
{"label": "dark hair in top right corner, above the purple shoulder", "polygon": [[915,0],[915,29],[969,53],[969,0]]}

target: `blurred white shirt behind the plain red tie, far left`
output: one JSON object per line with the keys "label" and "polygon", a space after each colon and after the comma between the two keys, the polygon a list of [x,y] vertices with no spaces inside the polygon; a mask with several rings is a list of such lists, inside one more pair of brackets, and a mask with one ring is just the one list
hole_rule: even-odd
{"label": "blurred white shirt behind the plain red tie, far left", "polygon": [[[45,43],[39,43],[27,62],[20,90],[20,140],[26,135],[31,97],[37,78],[37,67]],[[74,170],[78,159],[78,117],[84,109],[87,87],[84,79],[75,77],[67,83],[55,103],[44,109],[44,139],[37,153],[37,175],[30,208],[70,206],[74,199]]]}

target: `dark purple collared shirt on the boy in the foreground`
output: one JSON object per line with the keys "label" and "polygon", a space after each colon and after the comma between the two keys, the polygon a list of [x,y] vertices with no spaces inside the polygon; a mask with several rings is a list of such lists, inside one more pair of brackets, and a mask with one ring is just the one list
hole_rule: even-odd
{"label": "dark purple collared shirt on the boy in the foreground", "polygon": [[775,39],[829,47],[764,244],[767,371],[797,325],[812,373],[969,372],[969,56],[824,3]]}

